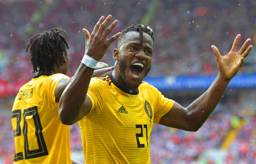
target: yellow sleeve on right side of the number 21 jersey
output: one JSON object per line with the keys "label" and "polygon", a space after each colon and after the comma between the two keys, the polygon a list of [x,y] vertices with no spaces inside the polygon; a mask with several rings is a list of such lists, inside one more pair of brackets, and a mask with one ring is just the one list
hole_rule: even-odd
{"label": "yellow sleeve on right side of the number 21 jersey", "polygon": [[156,96],[156,107],[154,113],[154,123],[158,124],[161,117],[164,116],[173,106],[174,100],[166,98],[157,88],[152,86],[152,91]]}

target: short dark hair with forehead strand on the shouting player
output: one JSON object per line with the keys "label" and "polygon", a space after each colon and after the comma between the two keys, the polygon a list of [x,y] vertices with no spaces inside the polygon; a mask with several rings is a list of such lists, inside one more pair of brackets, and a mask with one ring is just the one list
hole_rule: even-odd
{"label": "short dark hair with forehead strand on the shouting player", "polygon": [[123,39],[124,39],[124,36],[127,32],[131,32],[131,31],[137,31],[140,33],[140,43],[141,45],[142,44],[142,41],[143,41],[143,32],[149,34],[149,36],[151,37],[151,39],[155,40],[155,37],[153,36],[154,32],[153,30],[146,24],[142,25],[142,24],[137,24],[135,23],[134,25],[131,25],[130,27],[127,27],[126,29],[124,29],[122,32],[121,32],[121,36],[118,37],[118,40],[117,40],[117,48],[118,50],[120,49],[120,46],[121,46],[121,43],[123,42]]}

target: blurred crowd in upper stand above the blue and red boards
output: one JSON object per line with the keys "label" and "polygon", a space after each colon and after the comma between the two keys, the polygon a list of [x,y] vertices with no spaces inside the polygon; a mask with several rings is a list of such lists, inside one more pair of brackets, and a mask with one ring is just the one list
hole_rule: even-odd
{"label": "blurred crowd in upper stand above the blue and red boards", "polygon": [[[247,38],[254,43],[255,6],[255,1],[231,0],[0,2],[0,79],[28,81],[32,69],[26,45],[32,34],[53,27],[67,31],[71,56],[68,75],[72,76],[84,54],[82,28],[92,31],[98,17],[108,14],[118,20],[113,33],[136,22],[154,29],[154,63],[161,64],[152,65],[150,76],[215,74],[218,68],[211,45],[216,45],[221,54],[228,53],[237,34],[242,35],[241,43]],[[113,48],[115,44],[102,59],[110,66],[114,64]],[[255,55],[248,58],[241,73],[256,72]]]}

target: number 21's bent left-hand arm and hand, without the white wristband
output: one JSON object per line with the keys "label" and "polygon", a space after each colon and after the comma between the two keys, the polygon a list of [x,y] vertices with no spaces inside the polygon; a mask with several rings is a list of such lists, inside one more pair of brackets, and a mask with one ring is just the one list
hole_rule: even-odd
{"label": "number 21's bent left-hand arm and hand, without the white wristband", "polygon": [[[105,55],[110,44],[121,35],[119,32],[107,39],[107,36],[118,22],[115,20],[106,28],[111,18],[112,16],[108,15],[104,20],[104,16],[101,16],[91,35],[86,29],[83,29],[85,53],[96,61],[99,61]],[[89,113],[92,103],[87,97],[87,91],[93,72],[94,68],[81,63],[74,77],[65,88],[59,102],[59,119],[63,124],[72,125]]]}

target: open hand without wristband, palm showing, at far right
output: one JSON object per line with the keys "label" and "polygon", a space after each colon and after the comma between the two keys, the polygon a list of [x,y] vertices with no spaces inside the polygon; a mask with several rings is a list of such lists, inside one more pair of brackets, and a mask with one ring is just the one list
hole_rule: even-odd
{"label": "open hand without wristband, palm showing, at far right", "polygon": [[247,55],[250,53],[250,50],[252,49],[252,45],[250,45],[246,49],[251,41],[251,39],[247,39],[241,49],[236,52],[240,37],[240,34],[236,36],[230,52],[225,56],[222,56],[220,54],[216,46],[211,46],[216,56],[219,71],[229,80],[231,80],[237,74],[238,70],[242,67],[244,63],[244,58],[247,57]]}

